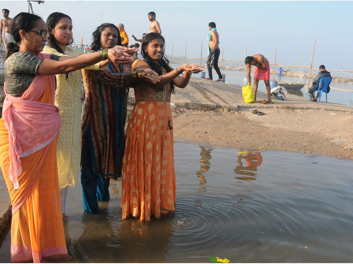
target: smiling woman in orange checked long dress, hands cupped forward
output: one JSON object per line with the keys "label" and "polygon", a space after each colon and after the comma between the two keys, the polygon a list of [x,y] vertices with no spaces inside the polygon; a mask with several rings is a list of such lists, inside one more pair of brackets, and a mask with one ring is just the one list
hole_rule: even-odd
{"label": "smiling woman in orange checked long dress, hands cupped forward", "polygon": [[[149,69],[159,74],[156,84],[140,83],[135,88],[136,104],[126,130],[122,165],[122,218],[139,217],[149,221],[175,210],[175,170],[173,119],[170,95],[174,85],[184,88],[191,73],[202,68],[184,64],[173,70],[164,56],[164,38],[158,33],[146,34],[142,42],[144,60],[132,64],[132,70]],[[179,75],[183,72],[183,77]]]}

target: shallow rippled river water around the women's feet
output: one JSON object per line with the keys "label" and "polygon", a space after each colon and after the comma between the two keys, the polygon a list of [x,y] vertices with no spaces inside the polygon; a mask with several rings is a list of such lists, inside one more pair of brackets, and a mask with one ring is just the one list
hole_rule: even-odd
{"label": "shallow rippled river water around the women's feet", "polygon": [[[69,262],[353,262],[352,161],[175,142],[176,212],[121,220],[121,182],[101,214],[69,188]],[[10,262],[10,227],[0,237]]]}

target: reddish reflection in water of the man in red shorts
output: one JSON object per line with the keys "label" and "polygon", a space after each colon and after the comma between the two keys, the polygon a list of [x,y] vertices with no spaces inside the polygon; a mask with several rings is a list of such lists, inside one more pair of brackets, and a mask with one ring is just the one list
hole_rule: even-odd
{"label": "reddish reflection in water of the man in red shorts", "polygon": [[[256,180],[257,166],[260,166],[262,163],[261,151],[259,150],[246,150],[239,151],[237,154],[240,154],[237,158],[238,166],[235,168],[234,172],[238,175],[246,176],[236,176],[235,178],[243,181],[252,181]],[[243,156],[244,155],[244,156]],[[246,166],[243,166],[244,159]]]}

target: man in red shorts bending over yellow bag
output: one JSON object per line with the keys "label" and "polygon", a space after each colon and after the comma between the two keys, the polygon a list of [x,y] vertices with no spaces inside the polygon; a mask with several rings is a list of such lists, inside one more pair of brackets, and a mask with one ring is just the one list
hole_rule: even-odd
{"label": "man in red shorts bending over yellow bag", "polygon": [[265,58],[262,54],[255,54],[252,56],[247,56],[245,58],[246,64],[246,76],[247,82],[251,82],[251,66],[255,66],[254,70],[254,95],[256,101],[256,92],[259,84],[259,80],[263,80],[265,82],[266,91],[267,91],[267,100],[262,100],[264,103],[273,103],[271,100],[271,88],[270,88],[270,63],[268,59]]}

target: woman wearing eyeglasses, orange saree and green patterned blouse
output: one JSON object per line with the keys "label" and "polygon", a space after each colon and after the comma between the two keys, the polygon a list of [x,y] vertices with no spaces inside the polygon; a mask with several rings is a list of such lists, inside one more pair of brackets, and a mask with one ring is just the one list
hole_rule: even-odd
{"label": "woman wearing eyeglasses, orange saree and green patterned blouse", "polygon": [[12,203],[11,262],[59,260],[67,257],[67,249],[56,165],[61,119],[54,106],[54,75],[108,58],[131,59],[118,47],[75,58],[42,54],[47,27],[30,13],[16,15],[10,32],[14,41],[7,45],[4,63],[0,166]]}

